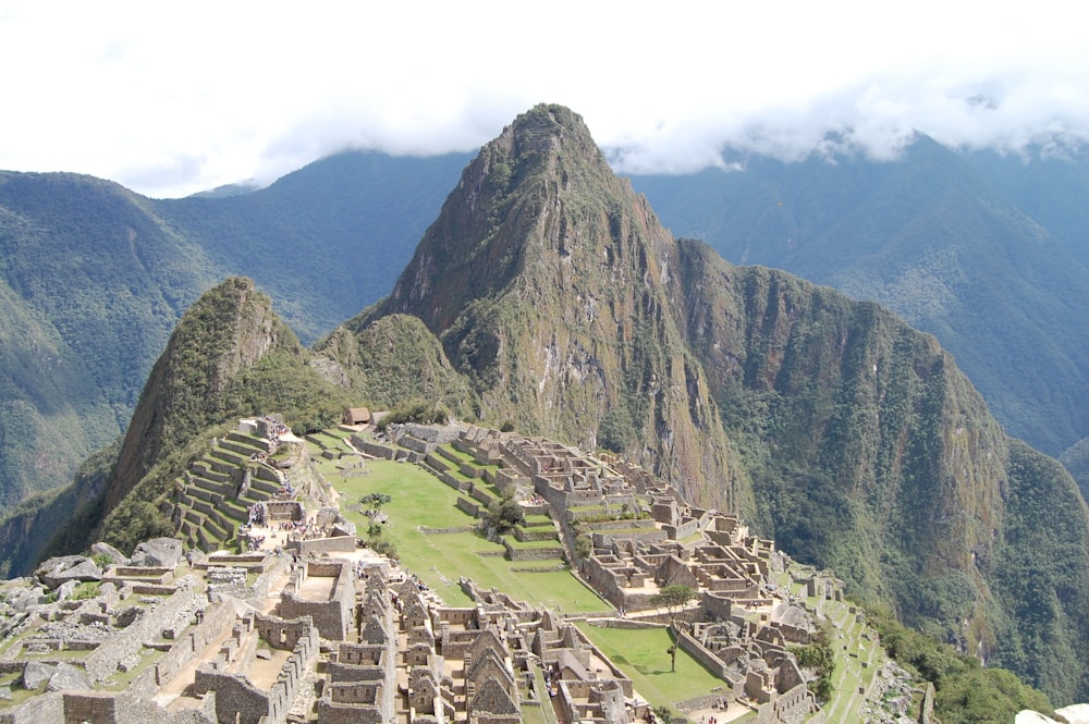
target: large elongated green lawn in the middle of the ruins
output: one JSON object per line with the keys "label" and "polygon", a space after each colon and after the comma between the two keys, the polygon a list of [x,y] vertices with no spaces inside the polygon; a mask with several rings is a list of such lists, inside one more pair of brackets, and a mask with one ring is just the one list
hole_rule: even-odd
{"label": "large elongated green lawn in the middle of the ruins", "polygon": [[[467,576],[481,588],[498,588],[515,600],[567,613],[612,608],[566,570],[518,573],[513,568],[526,567],[525,562],[481,555],[502,554],[504,549],[476,532],[420,532],[421,526],[458,528],[472,526],[475,520],[454,507],[457,491],[415,465],[367,461],[365,475],[348,478],[338,474],[333,461],[319,461],[318,466],[342,494],[342,510],[370,492],[383,492],[393,499],[382,508],[389,516],[386,535],[397,547],[402,563],[450,605],[470,604],[457,585],[460,576]],[[362,513],[345,512],[345,517],[366,531],[369,519]]]}

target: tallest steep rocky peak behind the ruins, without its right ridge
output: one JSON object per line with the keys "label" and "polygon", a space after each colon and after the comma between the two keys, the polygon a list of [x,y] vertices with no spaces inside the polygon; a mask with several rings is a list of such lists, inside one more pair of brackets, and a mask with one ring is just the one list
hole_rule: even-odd
{"label": "tallest steep rocky peak behind the ruins, without its right ridge", "polygon": [[419,317],[485,419],[622,450],[694,500],[744,506],[670,312],[675,255],[582,120],[540,106],[466,168],[391,296],[357,323]]}

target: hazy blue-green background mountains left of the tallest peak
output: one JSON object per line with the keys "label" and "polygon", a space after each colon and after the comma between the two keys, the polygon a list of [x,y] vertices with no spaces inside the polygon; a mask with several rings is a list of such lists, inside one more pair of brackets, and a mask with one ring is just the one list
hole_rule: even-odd
{"label": "hazy blue-green background mountains left of the tallest peak", "polygon": [[0,172],[0,514],[123,434],[182,312],[245,273],[307,342],[389,292],[468,156],[350,152],[242,196]]}

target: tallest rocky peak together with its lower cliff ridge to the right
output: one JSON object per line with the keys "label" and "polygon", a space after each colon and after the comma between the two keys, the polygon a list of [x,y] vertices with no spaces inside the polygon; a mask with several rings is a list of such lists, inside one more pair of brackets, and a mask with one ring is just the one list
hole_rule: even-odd
{"label": "tallest rocky peak together with its lower cliff ridge to the right", "polygon": [[[392,314],[439,338],[484,419],[617,450],[910,625],[1056,700],[1087,695],[1076,656],[1050,670],[1040,656],[1089,640],[1085,625],[1054,625],[1089,615],[1085,506],[1064,503],[1047,541],[1008,527],[1033,517],[1033,487],[1076,502],[1068,476],[1015,463],[933,338],[674,241],[571,111],[537,107],[487,145],[392,295],[350,326]],[[1015,565],[1056,555],[1038,573]],[[1026,616],[1010,586],[1062,587],[1041,599],[1052,623]]]}

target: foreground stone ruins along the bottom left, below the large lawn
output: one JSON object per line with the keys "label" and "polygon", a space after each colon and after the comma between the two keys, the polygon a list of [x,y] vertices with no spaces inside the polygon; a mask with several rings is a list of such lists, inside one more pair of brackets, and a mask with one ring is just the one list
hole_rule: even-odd
{"label": "foreground stone ruins along the bottom left, below the large lawn", "polygon": [[[216,572],[240,566],[259,572],[240,591],[246,598],[201,591]],[[93,600],[33,611],[102,616],[112,635],[76,662],[83,685],[42,690],[0,710],[0,722],[515,724],[523,707],[554,705],[564,721],[624,723],[647,712],[631,680],[573,624],[468,580],[475,605],[450,608],[388,562],[213,555],[173,580],[172,594],[144,597],[140,613],[122,623],[110,611],[127,610],[121,601],[140,577],[127,568],[130,582],[105,584]],[[5,651],[0,670],[25,674],[50,660],[27,655],[34,640]],[[64,643],[73,641],[58,653]],[[119,667],[140,649],[147,660],[129,665],[143,673],[119,687]]]}

